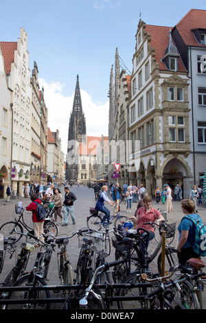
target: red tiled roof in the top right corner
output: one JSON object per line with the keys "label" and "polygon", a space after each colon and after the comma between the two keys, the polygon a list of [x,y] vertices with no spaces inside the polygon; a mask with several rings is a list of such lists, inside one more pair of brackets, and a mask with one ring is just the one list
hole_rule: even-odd
{"label": "red tiled roof in the top right corner", "polygon": [[187,14],[185,14],[185,16],[183,16],[183,19],[181,19],[174,28],[179,31],[179,34],[186,45],[206,46],[198,43],[192,32],[192,30],[196,28],[206,29],[206,10],[191,9]]}

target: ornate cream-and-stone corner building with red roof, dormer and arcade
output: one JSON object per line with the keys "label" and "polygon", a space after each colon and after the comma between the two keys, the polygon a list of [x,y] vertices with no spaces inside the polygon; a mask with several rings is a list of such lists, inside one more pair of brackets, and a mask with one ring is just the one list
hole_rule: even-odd
{"label": "ornate cream-and-stone corner building with red roof, dormer and arcade", "polygon": [[130,182],[149,194],[168,182],[188,196],[192,186],[190,78],[172,39],[172,27],[139,21],[131,76]]}

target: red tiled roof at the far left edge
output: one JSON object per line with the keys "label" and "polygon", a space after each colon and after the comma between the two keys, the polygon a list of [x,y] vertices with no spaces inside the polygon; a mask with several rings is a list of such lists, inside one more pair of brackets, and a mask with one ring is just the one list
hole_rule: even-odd
{"label": "red tiled roof at the far left edge", "polygon": [[12,63],[14,63],[14,51],[17,49],[17,42],[1,41],[0,43],[5,65],[5,73],[9,74]]}

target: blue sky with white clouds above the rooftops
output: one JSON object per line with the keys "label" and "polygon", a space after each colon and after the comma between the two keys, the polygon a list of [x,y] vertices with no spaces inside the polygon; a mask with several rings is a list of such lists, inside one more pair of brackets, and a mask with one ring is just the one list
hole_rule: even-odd
{"label": "blue sky with white clouds above the rooftops", "polygon": [[1,0],[0,40],[16,41],[20,28],[25,28],[30,69],[35,60],[45,87],[49,127],[60,130],[64,152],[77,74],[87,135],[107,135],[107,93],[115,49],[132,71],[140,8],[147,24],[172,27],[190,9],[205,10],[206,5],[191,0]]}

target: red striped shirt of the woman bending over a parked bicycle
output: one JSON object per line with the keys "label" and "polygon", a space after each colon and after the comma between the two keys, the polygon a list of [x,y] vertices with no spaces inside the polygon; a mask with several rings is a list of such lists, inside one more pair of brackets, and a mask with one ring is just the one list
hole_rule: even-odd
{"label": "red striped shirt of the woman bending over a parked bicycle", "polygon": [[144,225],[143,223],[155,222],[155,220],[159,219],[161,213],[154,208],[151,208],[150,212],[146,213],[146,208],[145,206],[143,206],[142,208],[139,208],[137,214],[139,214],[139,223],[137,224],[137,228],[142,227],[143,229],[148,230],[150,232],[155,232],[154,227],[152,227],[152,225]]}

